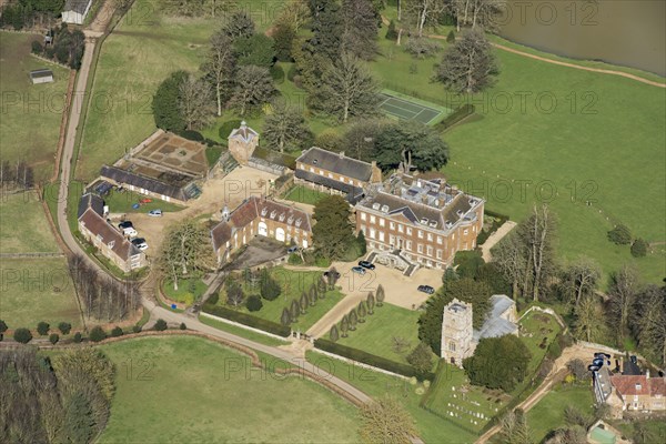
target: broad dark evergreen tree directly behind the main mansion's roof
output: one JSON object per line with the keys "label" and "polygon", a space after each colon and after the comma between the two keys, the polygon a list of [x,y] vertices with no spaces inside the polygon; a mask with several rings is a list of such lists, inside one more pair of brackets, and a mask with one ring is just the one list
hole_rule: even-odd
{"label": "broad dark evergreen tree directly behind the main mansion's roof", "polygon": [[375,159],[383,170],[400,168],[408,173],[414,164],[421,171],[430,171],[448,161],[446,142],[434,129],[416,121],[387,125],[375,147]]}

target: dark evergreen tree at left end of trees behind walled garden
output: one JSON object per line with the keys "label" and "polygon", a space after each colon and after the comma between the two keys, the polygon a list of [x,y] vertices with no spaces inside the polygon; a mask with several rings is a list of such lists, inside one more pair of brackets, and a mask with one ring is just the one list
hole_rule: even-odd
{"label": "dark evergreen tree at left end of trees behind walled garden", "polygon": [[160,83],[152,100],[155,125],[165,131],[180,132],[185,129],[185,120],[180,112],[180,88],[188,78],[185,71],[172,72]]}

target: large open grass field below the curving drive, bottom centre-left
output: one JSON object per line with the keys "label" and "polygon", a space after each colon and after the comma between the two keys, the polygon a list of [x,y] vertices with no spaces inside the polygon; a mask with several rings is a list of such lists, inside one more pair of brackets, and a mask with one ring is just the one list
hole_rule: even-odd
{"label": "large open grass field below the curving drive, bottom centre-left", "polygon": [[218,344],[155,337],[100,349],[118,370],[101,443],[357,441],[346,401],[310,381],[251,370],[248,357]]}

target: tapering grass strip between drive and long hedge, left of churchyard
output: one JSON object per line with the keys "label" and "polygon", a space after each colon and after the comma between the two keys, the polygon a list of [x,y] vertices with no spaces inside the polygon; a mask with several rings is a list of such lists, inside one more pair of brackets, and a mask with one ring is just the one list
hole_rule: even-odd
{"label": "tapering grass strip between drive and long hedge, left of churchyard", "polygon": [[421,384],[414,386],[405,380],[347,364],[316,352],[306,352],[305,357],[374,398],[389,395],[398,400],[414,418],[418,435],[426,443],[466,444],[475,442],[478,437],[421,408],[418,403],[422,395],[416,393],[416,389],[423,389]]}

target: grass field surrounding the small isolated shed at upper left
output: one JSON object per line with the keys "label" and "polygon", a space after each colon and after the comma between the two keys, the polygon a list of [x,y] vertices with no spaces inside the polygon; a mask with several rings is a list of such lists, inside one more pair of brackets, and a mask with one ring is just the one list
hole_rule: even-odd
{"label": "grass field surrounding the small isolated shed at upper left", "polygon": [[[30,56],[31,42],[40,39],[0,32],[0,140],[2,160],[26,160],[34,167],[37,179],[43,180],[53,173],[69,70]],[[53,83],[31,83],[29,72],[41,68],[53,71]]]}

